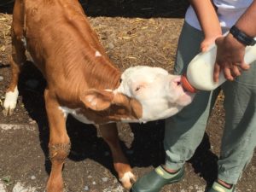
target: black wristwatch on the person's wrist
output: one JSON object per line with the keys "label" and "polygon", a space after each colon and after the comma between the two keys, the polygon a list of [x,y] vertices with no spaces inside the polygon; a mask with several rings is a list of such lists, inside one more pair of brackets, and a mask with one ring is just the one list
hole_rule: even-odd
{"label": "black wristwatch on the person's wrist", "polygon": [[236,26],[232,26],[230,28],[230,33],[241,44],[244,44],[246,46],[253,46],[254,44],[256,44],[256,40],[253,37],[247,36],[246,33],[241,32],[241,30],[238,29]]}

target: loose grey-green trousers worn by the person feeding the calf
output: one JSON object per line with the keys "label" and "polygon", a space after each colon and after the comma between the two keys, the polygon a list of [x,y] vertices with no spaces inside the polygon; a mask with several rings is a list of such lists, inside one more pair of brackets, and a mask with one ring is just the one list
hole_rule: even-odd
{"label": "loose grey-green trousers worn by the person feeding the calf", "polygon": [[[200,52],[202,39],[201,31],[184,23],[177,46],[175,73],[185,72],[189,61]],[[166,119],[166,166],[178,169],[195,153],[220,89],[224,91],[225,125],[218,178],[236,184],[252,159],[256,145],[256,62],[235,81],[226,81],[213,91],[198,92],[188,107]]]}

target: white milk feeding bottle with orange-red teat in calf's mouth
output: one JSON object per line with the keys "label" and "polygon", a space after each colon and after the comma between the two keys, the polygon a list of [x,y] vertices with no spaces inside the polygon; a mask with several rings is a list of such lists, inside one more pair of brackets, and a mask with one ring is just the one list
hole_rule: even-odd
{"label": "white milk feeding bottle with orange-red teat in calf's mouth", "polygon": [[[213,70],[217,54],[217,46],[213,44],[207,52],[200,53],[189,62],[185,75],[182,76],[182,84],[185,90],[196,92],[197,90],[214,90],[226,80],[224,73],[219,73],[218,82],[213,81]],[[251,64],[256,61],[256,44],[247,46],[244,61]]]}

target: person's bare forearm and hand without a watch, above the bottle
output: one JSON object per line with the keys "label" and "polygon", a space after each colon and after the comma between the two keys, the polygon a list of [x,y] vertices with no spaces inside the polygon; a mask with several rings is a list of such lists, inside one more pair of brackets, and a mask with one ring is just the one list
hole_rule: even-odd
{"label": "person's bare forearm and hand without a watch, above the bottle", "polygon": [[200,22],[204,40],[201,42],[201,51],[206,51],[215,39],[222,35],[218,15],[211,0],[189,0]]}

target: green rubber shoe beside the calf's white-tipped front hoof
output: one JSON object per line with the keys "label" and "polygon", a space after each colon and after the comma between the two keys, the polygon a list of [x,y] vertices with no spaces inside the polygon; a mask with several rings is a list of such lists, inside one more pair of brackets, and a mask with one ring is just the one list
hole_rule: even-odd
{"label": "green rubber shoe beside the calf's white-tipped front hoof", "polygon": [[148,172],[139,178],[131,188],[132,192],[159,192],[168,183],[176,183],[183,178],[184,167],[178,172],[169,173],[162,166],[158,166],[153,171]]}

